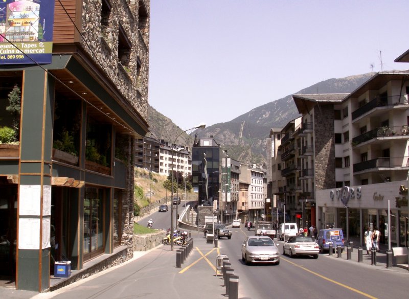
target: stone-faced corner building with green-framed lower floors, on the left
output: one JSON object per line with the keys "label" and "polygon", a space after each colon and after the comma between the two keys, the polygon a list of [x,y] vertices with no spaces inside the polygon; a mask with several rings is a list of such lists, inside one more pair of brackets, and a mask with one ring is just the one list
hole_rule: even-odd
{"label": "stone-faced corner building with green-framed lower floors, on the left", "polygon": [[[30,18],[1,28],[0,47],[15,55],[0,61],[0,126],[14,141],[0,145],[0,275],[43,291],[57,281],[55,261],[87,275],[133,256],[150,2],[6,0],[0,9]],[[9,113],[9,100],[20,111]]]}

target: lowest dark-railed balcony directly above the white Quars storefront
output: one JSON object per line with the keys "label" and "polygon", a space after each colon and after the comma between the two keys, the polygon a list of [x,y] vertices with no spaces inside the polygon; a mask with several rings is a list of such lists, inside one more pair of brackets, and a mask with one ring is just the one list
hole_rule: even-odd
{"label": "lowest dark-railed balcony directly above the white Quars storefront", "polygon": [[354,164],[354,173],[360,171],[380,171],[385,169],[408,170],[409,160],[408,156],[404,157],[380,157],[365,162]]}

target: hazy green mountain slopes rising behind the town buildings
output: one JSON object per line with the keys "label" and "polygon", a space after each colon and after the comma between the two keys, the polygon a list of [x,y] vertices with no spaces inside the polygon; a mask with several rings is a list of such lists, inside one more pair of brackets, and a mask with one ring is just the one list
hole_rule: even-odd
{"label": "hazy green mountain slopes rising behind the town buildings", "polygon": [[[351,93],[370,79],[372,75],[369,73],[340,79],[328,79],[301,89],[294,94]],[[182,130],[155,109],[150,107],[149,111],[151,112],[149,113],[151,132],[159,139],[165,139],[169,143],[173,142],[173,135],[176,137]],[[282,128],[299,116],[291,94],[256,107],[229,122],[214,124],[196,132],[199,138],[213,135],[221,148],[228,151],[230,157],[242,163],[264,163],[266,159],[265,140],[268,138],[270,129]],[[169,140],[169,136],[172,136],[171,140]],[[189,136],[185,134],[179,137],[177,143],[185,144],[182,141],[187,142],[187,146],[191,147],[193,138],[190,140]]]}

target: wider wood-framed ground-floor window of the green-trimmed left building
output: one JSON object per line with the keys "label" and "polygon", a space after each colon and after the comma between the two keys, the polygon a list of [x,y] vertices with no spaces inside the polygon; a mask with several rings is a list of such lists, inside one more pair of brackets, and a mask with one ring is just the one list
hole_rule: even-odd
{"label": "wider wood-framed ground-floor window of the green-trimmed left building", "polygon": [[104,250],[104,189],[85,188],[84,198],[84,260],[92,259]]}

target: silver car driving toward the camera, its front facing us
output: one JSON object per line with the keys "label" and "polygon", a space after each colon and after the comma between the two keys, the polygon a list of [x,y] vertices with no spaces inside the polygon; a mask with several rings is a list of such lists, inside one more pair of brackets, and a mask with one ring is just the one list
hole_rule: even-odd
{"label": "silver car driving toward the camera, its front facing us", "polygon": [[280,264],[280,253],[277,245],[267,236],[247,237],[241,246],[241,259],[249,263]]}

